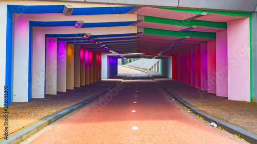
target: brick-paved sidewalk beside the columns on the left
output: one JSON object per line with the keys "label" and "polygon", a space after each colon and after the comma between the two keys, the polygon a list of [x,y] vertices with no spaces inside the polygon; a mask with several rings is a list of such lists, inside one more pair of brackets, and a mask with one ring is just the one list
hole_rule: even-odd
{"label": "brick-paved sidewalk beside the columns on the left", "polygon": [[[46,95],[45,98],[31,98],[29,102],[12,102],[8,106],[9,134],[106,90],[126,75],[122,73],[110,79],[103,79],[94,84],[75,88],[74,90],[58,92],[57,95]],[[0,113],[4,115],[4,108],[0,108]],[[3,138],[5,128],[3,116],[0,117],[0,121],[2,121],[0,124],[0,132],[2,132],[0,133],[0,138]]]}

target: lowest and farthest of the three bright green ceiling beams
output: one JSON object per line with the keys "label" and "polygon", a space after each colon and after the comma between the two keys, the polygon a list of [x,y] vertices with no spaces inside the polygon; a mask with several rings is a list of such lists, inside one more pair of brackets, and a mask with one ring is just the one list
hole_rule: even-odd
{"label": "lowest and farthest of the three bright green ceiling beams", "polygon": [[156,35],[164,35],[164,36],[173,36],[173,37],[202,37],[202,38],[213,38],[216,39],[215,32],[198,32],[198,31],[168,31],[168,30],[160,30],[160,29],[151,29],[151,28],[144,28],[145,34],[156,34]]}

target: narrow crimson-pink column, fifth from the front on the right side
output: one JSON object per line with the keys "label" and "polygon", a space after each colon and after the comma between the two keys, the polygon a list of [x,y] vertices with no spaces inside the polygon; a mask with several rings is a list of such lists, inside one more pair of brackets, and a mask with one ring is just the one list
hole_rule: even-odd
{"label": "narrow crimson-pink column, fifth from the front on the right side", "polygon": [[201,52],[200,46],[195,47],[195,88],[201,88]]}

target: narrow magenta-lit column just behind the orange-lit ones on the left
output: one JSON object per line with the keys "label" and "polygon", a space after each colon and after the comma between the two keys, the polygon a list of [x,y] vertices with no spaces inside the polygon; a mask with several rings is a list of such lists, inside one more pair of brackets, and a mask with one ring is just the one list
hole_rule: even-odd
{"label": "narrow magenta-lit column just behind the orange-lit ones on the left", "polygon": [[85,86],[85,48],[80,48],[80,86]]}

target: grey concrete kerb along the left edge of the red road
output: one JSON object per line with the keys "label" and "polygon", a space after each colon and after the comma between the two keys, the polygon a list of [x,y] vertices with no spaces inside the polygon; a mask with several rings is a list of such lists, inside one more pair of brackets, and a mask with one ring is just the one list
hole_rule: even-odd
{"label": "grey concrete kerb along the left edge of the red road", "polygon": [[[126,75],[122,80],[126,79],[128,76],[130,76],[130,74]],[[122,80],[117,81],[117,83],[113,84],[111,87],[107,88],[106,90],[101,91],[101,92],[97,93],[96,95],[94,95],[74,106],[70,106],[70,107],[60,110],[56,113],[53,113],[45,118],[40,119],[39,121],[34,122],[31,125],[28,125],[27,127],[23,128],[17,132],[14,132],[13,134],[8,136],[8,140],[3,138],[0,140],[0,143],[1,144],[12,144],[12,143],[20,143],[20,142],[24,141],[31,135],[35,134],[36,132],[38,132],[38,131],[42,130],[43,128],[45,128],[46,126],[50,125],[52,122],[58,120],[59,118],[65,116],[71,112],[74,112],[74,111],[78,110],[79,108],[94,101],[101,95],[108,92],[110,89],[117,86],[119,83],[121,83]]]}

